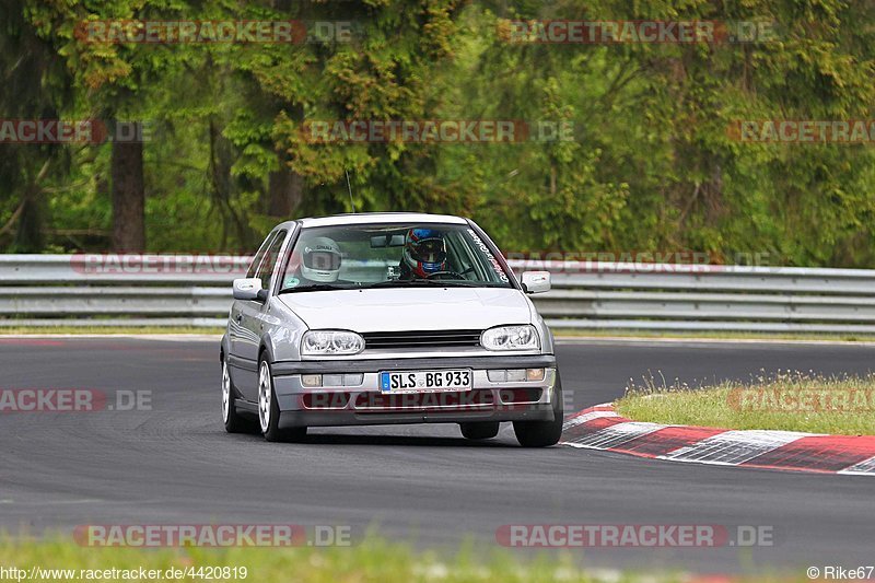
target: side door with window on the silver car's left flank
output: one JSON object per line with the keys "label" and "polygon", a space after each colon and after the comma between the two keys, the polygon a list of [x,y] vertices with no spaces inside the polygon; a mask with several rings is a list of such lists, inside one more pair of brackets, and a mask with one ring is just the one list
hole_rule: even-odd
{"label": "side door with window on the silver car's left flank", "polygon": [[[273,270],[288,234],[289,231],[287,229],[280,229],[273,233],[264,257],[261,257],[253,275],[253,277],[261,280],[261,289],[264,290],[270,289]],[[238,333],[236,354],[248,364],[248,374],[244,374],[243,382],[236,386],[246,400],[255,400],[258,396],[258,347],[261,340],[261,322],[267,311],[267,302],[257,300],[238,301],[237,308],[238,312],[234,315]]]}

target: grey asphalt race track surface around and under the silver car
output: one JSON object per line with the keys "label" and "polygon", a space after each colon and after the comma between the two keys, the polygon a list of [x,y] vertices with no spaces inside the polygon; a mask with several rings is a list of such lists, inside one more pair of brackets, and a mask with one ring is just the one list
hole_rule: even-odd
{"label": "grey asphalt race track surface around and under the silver car", "polygon": [[[748,378],[761,370],[865,373],[875,347],[574,341],[558,347],[574,407],[649,371]],[[456,425],[324,428],[305,443],[225,434],[218,341],[0,339],[1,388],[150,390],[152,410],[0,416],[0,528],[80,524],[369,526],[417,547],[495,547],[506,524],[769,526],[772,546],[572,549],[600,568],[761,572],[875,562],[875,479],[646,460],[486,443]],[[571,411],[567,411],[571,412]],[[513,550],[526,553],[532,551]]]}

